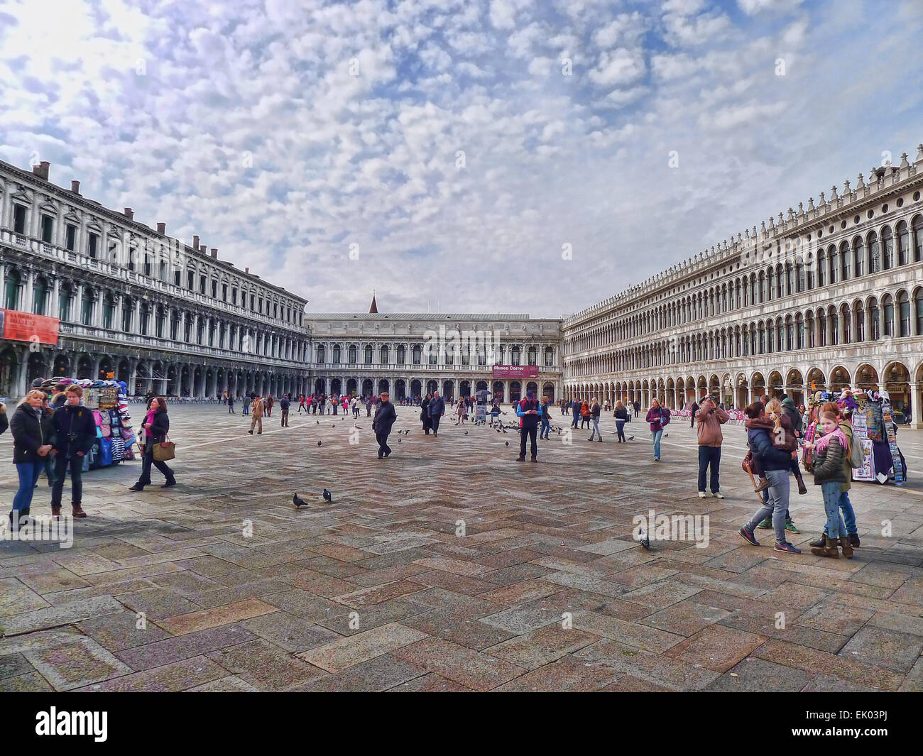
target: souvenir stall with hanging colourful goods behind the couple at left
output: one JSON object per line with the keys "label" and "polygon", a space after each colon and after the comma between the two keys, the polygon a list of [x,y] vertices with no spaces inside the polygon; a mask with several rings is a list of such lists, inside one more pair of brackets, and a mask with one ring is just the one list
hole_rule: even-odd
{"label": "souvenir stall with hanging colourful goods behind the couple at left", "polygon": [[83,404],[92,411],[96,422],[96,443],[83,458],[84,472],[136,459],[133,449],[136,438],[131,428],[124,383],[56,377],[43,379],[40,388],[50,395],[58,383],[76,384],[83,389]]}

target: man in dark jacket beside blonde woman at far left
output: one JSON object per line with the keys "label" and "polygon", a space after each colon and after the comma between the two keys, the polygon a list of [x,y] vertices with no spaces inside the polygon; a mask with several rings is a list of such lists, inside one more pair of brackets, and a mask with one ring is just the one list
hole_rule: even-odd
{"label": "man in dark jacket beside blonde woman at far left", "polygon": [[74,517],[86,517],[80,506],[83,499],[83,457],[96,441],[96,422],[87,407],[80,406],[83,389],[68,386],[66,401],[52,415],[52,447],[54,448],[54,485],[52,486],[52,516],[61,516],[61,497],[67,466],[70,465],[71,506]]}

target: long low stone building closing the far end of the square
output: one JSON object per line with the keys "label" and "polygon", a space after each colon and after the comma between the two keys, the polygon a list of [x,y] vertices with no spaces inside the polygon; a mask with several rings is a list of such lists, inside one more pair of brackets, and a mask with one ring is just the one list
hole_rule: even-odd
{"label": "long low stone building closing the far end of the square", "polygon": [[[560,320],[528,315],[311,313],[312,389],[395,399],[490,390],[514,402],[560,396]],[[532,367],[532,370],[527,368]],[[523,375],[520,375],[523,374]],[[532,374],[529,377],[524,374]]]}

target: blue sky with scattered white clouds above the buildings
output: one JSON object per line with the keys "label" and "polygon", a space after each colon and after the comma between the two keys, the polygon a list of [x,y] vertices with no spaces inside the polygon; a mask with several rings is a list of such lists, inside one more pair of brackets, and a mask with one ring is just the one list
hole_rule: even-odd
{"label": "blue sky with scattered white clouds above the buildings", "polygon": [[309,311],[560,317],[914,160],[921,38],[919,0],[2,0],[0,159]]}

